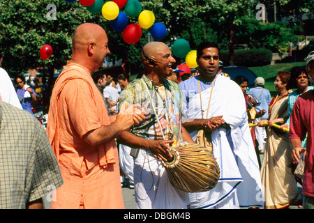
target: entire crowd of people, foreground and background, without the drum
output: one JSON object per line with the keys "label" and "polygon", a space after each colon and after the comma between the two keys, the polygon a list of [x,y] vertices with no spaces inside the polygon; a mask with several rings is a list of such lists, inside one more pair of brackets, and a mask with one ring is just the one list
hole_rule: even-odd
{"label": "entire crowd of people, foreground and background, without the drum", "polygon": [[[216,43],[197,47],[195,72],[174,69],[165,43],[147,43],[144,72],[133,81],[98,70],[110,53],[101,26],[77,26],[72,43],[47,129],[31,110],[43,105],[47,86],[18,76],[15,90],[0,68],[0,208],[43,208],[51,185],[52,209],[124,208],[124,177],[139,209],[314,208],[314,52],[305,68],[278,72],[271,98],[262,77],[248,90],[246,77],[223,73]],[[199,143],[200,130],[220,177],[212,190],[183,192],[163,162],[172,159],[171,147]]]}

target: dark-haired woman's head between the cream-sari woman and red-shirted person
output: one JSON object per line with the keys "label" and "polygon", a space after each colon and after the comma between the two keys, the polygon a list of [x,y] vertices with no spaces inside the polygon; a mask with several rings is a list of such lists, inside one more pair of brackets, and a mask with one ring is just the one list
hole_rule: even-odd
{"label": "dark-haired woman's head between the cream-sari woman and red-shirted person", "polygon": [[291,77],[287,84],[287,89],[304,90],[308,87],[309,78],[306,68],[297,67],[291,70]]}

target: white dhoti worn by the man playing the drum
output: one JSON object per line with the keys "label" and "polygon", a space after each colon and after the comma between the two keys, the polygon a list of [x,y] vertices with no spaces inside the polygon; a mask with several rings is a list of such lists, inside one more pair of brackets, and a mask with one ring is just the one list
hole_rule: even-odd
{"label": "white dhoti worn by the man playing the drum", "polygon": [[174,188],[160,160],[139,149],[134,166],[135,201],[140,209],[187,208],[186,192]]}

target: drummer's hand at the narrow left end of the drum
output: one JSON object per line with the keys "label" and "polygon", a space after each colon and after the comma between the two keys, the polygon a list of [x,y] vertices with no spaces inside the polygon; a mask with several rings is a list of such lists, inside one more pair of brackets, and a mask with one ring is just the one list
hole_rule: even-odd
{"label": "drummer's hand at the narrow left end of the drum", "polygon": [[169,144],[173,144],[174,140],[149,140],[149,150],[163,161],[171,160],[172,154],[167,151],[170,149]]}

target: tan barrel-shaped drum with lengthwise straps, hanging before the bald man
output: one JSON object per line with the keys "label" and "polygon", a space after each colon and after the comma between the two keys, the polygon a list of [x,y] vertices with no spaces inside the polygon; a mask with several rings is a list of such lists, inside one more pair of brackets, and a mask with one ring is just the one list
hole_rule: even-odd
{"label": "tan barrel-shaped drum with lengthwise straps, hanging before the bald man", "polygon": [[220,169],[207,148],[184,142],[170,148],[172,160],[164,162],[170,183],[184,192],[205,192],[213,189]]}

